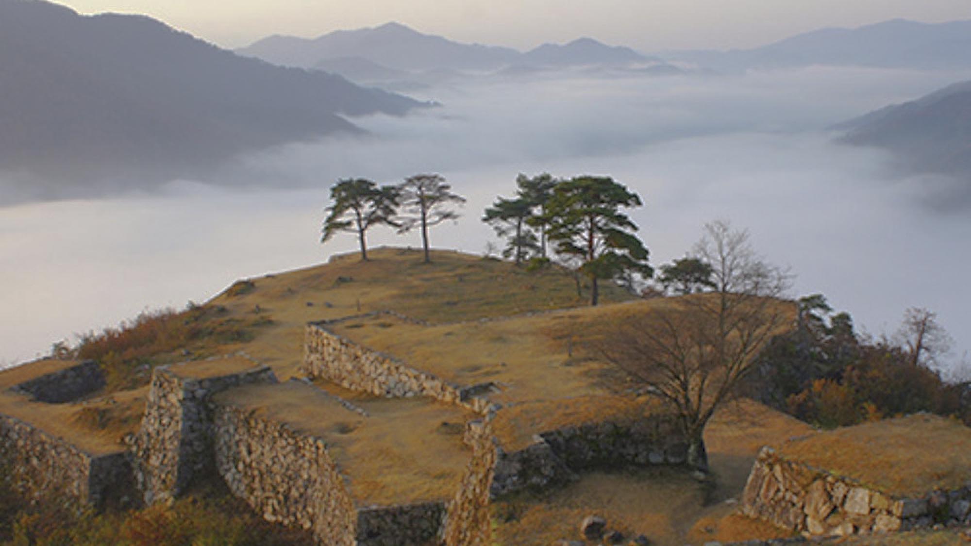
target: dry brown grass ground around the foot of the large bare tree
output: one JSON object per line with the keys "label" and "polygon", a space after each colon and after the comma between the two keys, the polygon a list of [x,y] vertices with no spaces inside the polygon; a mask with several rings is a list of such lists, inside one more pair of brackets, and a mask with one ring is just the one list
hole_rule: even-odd
{"label": "dry brown grass ground around the foot of the large bare tree", "polygon": [[644,533],[659,545],[786,536],[770,525],[738,516],[737,504],[725,501],[742,495],[763,445],[779,446],[793,435],[810,431],[811,427],[787,415],[752,400],[739,400],[722,408],[705,430],[717,479],[715,490],[707,493],[709,503],[702,487],[677,469],[593,473],[551,495],[499,502],[493,511],[496,542],[525,546],[577,539],[580,522],[591,513],[605,517],[614,529]]}

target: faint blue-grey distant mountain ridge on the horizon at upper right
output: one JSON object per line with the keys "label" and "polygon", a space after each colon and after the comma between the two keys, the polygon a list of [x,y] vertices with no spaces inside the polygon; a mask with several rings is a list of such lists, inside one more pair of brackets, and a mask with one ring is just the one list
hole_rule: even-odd
{"label": "faint blue-grey distant mountain ridge on the horizon at upper right", "polygon": [[721,71],[814,64],[879,68],[971,68],[971,20],[894,19],[854,29],[824,28],[752,50],[675,51],[668,59]]}

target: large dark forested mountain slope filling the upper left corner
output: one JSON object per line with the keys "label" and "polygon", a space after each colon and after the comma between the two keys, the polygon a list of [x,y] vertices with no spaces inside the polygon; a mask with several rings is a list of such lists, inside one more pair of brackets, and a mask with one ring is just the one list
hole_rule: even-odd
{"label": "large dark forested mountain slope filling the upper left corner", "polygon": [[340,115],[420,106],[148,17],[83,17],[40,0],[0,0],[0,96],[0,173],[45,197],[192,176],[242,152],[359,132]]}

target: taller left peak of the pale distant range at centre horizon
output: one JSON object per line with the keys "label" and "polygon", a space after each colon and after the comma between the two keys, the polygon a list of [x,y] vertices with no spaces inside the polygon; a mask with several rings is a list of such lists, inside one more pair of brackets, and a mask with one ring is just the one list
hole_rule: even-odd
{"label": "taller left peak of the pale distant range at centre horizon", "polygon": [[488,70],[513,62],[519,51],[459,44],[389,22],[376,28],[338,30],[318,38],[271,36],[238,50],[284,66],[312,68],[321,60],[358,57],[395,70]]}

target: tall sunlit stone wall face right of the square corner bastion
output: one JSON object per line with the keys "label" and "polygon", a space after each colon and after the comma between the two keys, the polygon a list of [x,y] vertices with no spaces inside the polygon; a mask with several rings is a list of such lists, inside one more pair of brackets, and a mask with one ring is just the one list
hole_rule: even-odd
{"label": "tall sunlit stone wall face right of the square corner bastion", "polygon": [[320,438],[257,419],[245,410],[215,410],[215,457],[230,491],[269,522],[312,529],[321,544],[354,544],[351,495]]}

